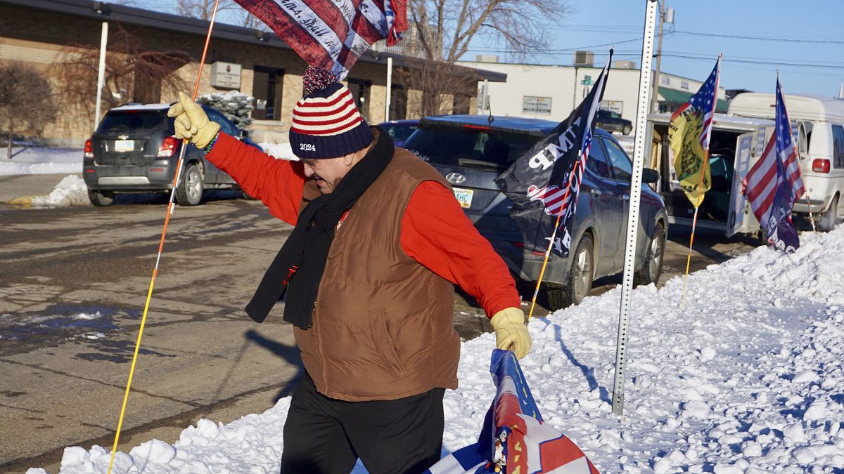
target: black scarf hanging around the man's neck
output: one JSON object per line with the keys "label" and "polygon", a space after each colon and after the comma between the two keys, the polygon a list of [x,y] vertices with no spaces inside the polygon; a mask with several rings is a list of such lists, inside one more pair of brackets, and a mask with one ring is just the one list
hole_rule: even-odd
{"label": "black scarf hanging around the man's neck", "polygon": [[392,138],[376,127],[375,146],[338,183],[301,211],[295,229],[273,259],[258,285],[246,314],[262,322],[287,293],[284,320],[302,329],[311,327],[317,289],[325,271],[328,249],[343,214],[387,168],[394,151]]}

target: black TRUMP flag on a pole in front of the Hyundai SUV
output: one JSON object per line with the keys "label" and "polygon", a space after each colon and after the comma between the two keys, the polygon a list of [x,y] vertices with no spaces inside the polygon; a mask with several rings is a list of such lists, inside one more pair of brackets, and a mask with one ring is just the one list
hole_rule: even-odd
{"label": "black TRUMP flag on a pole in front of the Hyundai SUV", "polygon": [[527,250],[544,251],[553,240],[555,253],[569,253],[571,222],[592,144],[595,112],[612,59],[613,50],[609,50],[598,80],[571,115],[495,179],[513,202],[510,215],[522,229]]}

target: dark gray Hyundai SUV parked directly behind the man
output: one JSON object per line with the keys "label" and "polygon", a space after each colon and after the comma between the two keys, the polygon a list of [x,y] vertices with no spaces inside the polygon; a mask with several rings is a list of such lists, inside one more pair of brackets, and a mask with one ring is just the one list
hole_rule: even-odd
{"label": "dark gray Hyundai SUV parked directly behind the man", "polygon": [[[515,277],[536,282],[544,252],[526,250],[522,231],[510,218],[512,202],[493,181],[557,123],[495,116],[432,116],[404,142],[404,148],[439,170],[479,232],[490,240]],[[592,280],[622,272],[630,208],[632,164],[608,132],[596,129],[572,222],[568,257],[552,256],[543,278],[553,310],[577,304]],[[646,180],[659,175],[646,170]],[[668,214],[663,199],[642,186],[636,283],[656,283],[663,267]]]}

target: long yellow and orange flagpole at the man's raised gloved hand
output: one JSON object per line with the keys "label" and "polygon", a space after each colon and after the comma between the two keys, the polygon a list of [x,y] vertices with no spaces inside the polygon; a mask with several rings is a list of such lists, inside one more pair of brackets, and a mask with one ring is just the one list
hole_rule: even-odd
{"label": "long yellow and orange flagpole at the man's raised gloved hand", "polygon": [[[193,100],[197,99],[197,92],[199,90],[199,78],[202,77],[203,74],[203,66],[205,64],[205,56],[208,53],[208,43],[211,41],[211,31],[214,30],[214,19],[217,17],[217,7],[219,6],[219,0],[214,1],[214,10],[211,13],[211,21],[208,23],[208,35],[205,36],[205,46],[203,46],[203,56],[199,60],[199,71],[197,72],[197,81],[193,85]],[[155,285],[155,277],[158,276],[158,269],[159,263],[161,261],[161,254],[164,251],[164,240],[165,236],[167,235],[167,224],[170,224],[170,215],[173,213],[173,209],[175,207],[175,202],[173,197],[176,194],[176,187],[179,184],[179,178],[181,175],[181,164],[185,156],[185,148],[189,143],[187,140],[182,140],[181,142],[181,152],[179,154],[179,161],[176,164],[176,175],[173,177],[173,189],[170,192],[170,203],[167,206],[167,213],[165,214],[164,219],[164,229],[161,230],[161,240],[159,242],[159,250],[158,250],[158,257],[155,259],[155,267],[153,268],[153,276],[152,279],[149,281],[149,291],[147,292],[147,301],[143,305],[143,316],[141,316],[141,326],[138,328],[138,340],[135,342],[135,352],[132,356],[132,366],[129,368],[129,380],[126,382],[126,391],[123,394],[123,405],[120,409],[120,418],[117,421],[117,431],[114,434],[114,444],[111,447],[111,460],[108,463],[108,474],[111,474],[111,467],[114,465],[114,456],[117,453],[117,443],[120,439],[120,431],[123,427],[123,417],[126,414],[126,406],[127,402],[129,401],[129,391],[132,387],[132,377],[135,373],[135,364],[138,361],[138,350],[141,348],[141,337],[143,337],[143,326],[147,322],[147,313],[149,312],[149,301],[152,299],[153,295],[153,287]]]}

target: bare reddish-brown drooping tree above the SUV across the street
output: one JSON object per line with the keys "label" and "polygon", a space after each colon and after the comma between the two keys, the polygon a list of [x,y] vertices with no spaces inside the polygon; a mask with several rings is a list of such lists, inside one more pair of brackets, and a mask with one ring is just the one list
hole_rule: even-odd
{"label": "bare reddish-brown drooping tree above the SUV across the street", "polygon": [[[106,46],[102,100],[106,110],[124,102],[153,103],[161,90],[187,89],[176,71],[191,62],[185,51],[151,51],[118,25]],[[94,116],[100,46],[71,43],[60,51],[56,79],[68,106]]]}

